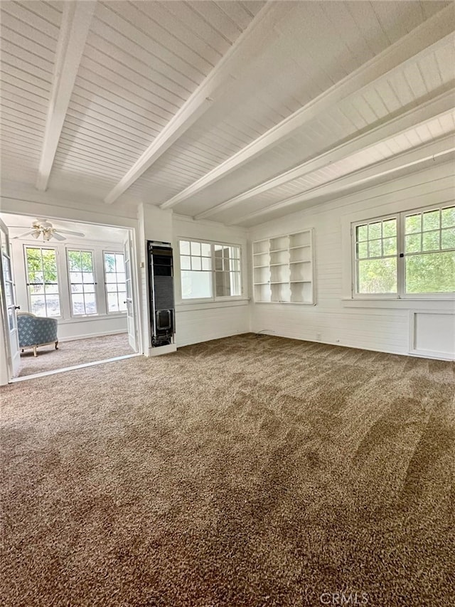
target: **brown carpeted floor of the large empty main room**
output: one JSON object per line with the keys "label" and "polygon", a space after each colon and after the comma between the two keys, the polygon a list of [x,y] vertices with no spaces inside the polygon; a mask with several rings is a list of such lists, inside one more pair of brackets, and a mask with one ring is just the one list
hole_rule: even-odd
{"label": "brown carpeted floor of the large empty main room", "polygon": [[454,394],[252,334],[6,386],[2,604],[448,607]]}

